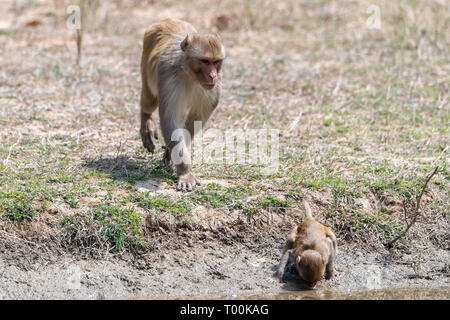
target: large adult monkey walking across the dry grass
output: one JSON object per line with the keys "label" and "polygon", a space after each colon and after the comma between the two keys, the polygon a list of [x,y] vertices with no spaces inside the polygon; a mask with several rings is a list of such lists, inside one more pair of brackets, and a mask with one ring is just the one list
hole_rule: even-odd
{"label": "large adult monkey walking across the dry grass", "polygon": [[198,34],[181,20],[162,20],[145,32],[140,134],[144,147],[153,153],[158,138],[153,113],[159,106],[166,144],[163,160],[175,164],[178,190],[191,191],[200,184],[192,174],[190,141],[194,121],[201,121],[204,127],[219,103],[224,58],[218,35]]}

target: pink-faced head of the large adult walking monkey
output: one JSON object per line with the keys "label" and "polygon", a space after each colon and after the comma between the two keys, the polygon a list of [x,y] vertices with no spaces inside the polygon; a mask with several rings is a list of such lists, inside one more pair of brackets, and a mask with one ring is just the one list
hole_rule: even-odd
{"label": "pink-faced head of the large adult walking monkey", "polygon": [[220,80],[220,69],[225,59],[225,47],[220,37],[216,34],[188,34],[180,47],[200,85],[206,90],[214,88]]}

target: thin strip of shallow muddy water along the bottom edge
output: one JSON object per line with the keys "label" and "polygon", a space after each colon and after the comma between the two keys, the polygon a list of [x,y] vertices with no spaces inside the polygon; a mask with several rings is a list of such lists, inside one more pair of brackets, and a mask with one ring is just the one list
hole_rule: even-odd
{"label": "thin strip of shallow muddy water along the bottom edge", "polygon": [[[144,298],[145,299],[145,298]],[[154,299],[154,298],[151,298]],[[157,298],[160,299],[160,298]],[[382,290],[358,290],[349,293],[305,290],[282,291],[276,294],[250,294],[229,296],[186,296],[180,300],[449,300],[450,287],[401,288]]]}

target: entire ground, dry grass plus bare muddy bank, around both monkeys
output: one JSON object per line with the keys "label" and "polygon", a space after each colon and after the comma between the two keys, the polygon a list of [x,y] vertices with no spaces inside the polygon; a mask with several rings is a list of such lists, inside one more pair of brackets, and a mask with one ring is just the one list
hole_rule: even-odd
{"label": "entire ground, dry grass plus bare muddy bank, around both monkeys", "polygon": [[[80,66],[69,2],[0,1],[0,299],[286,298],[303,198],[339,250],[301,298],[449,298],[445,1],[80,1]],[[141,41],[166,17],[221,34],[209,126],[279,130],[276,174],[194,159],[180,193],[162,142],[142,148]]]}

